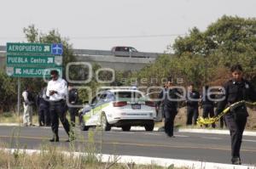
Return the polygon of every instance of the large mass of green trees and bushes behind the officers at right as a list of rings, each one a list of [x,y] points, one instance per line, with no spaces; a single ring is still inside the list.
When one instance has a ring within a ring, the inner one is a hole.
[[[231,65],[242,65],[245,76],[256,82],[256,19],[243,19],[224,15],[200,31],[194,27],[186,37],[177,37],[172,45],[175,54],[165,54],[153,65],[133,72],[129,78],[157,78],[148,86],[162,85],[161,79],[183,78],[183,85],[194,82],[195,86],[221,84],[218,70]],[[223,72],[224,73],[224,72]],[[228,76],[224,76],[229,78]]]

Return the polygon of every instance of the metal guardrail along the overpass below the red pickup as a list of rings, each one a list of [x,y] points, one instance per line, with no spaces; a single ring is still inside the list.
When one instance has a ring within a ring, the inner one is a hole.
[[[0,46],[0,53],[5,53],[6,46]],[[90,49],[73,49],[75,55],[113,55],[117,57],[132,57],[132,58],[154,58],[156,59],[161,54],[157,53],[143,53],[143,52],[111,52],[108,50],[90,50]]]

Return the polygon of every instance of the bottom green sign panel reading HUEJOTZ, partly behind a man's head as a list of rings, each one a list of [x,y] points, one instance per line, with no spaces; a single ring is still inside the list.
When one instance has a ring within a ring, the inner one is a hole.
[[[22,67],[22,66],[7,66],[6,73],[8,76],[15,77],[49,77],[50,70],[58,70],[62,75],[62,67],[55,68],[40,68],[40,67]]]

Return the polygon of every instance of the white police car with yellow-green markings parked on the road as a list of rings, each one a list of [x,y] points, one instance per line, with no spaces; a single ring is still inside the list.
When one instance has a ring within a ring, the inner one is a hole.
[[[153,131],[155,119],[154,102],[142,92],[132,89],[103,91],[79,111],[81,130],[101,126],[105,131],[111,130],[111,127],[130,131],[132,126],[141,126],[146,131]]]

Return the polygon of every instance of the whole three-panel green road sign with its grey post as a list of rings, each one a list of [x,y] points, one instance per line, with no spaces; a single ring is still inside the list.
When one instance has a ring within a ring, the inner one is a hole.
[[[6,73],[18,77],[18,114],[20,116],[20,77],[49,77],[50,70],[62,75],[61,43],[20,43],[6,44]]]

